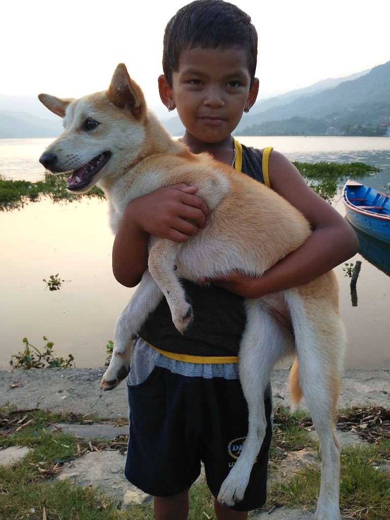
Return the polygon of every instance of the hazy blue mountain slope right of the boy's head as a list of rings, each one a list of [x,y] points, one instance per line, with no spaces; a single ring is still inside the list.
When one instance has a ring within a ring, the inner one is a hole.
[[[237,135],[384,134],[390,125],[390,61],[332,88],[276,100],[244,117]]]

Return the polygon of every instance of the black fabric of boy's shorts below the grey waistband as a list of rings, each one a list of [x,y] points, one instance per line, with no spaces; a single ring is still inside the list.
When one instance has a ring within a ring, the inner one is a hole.
[[[248,432],[248,407],[239,380],[205,379],[155,367],[138,385],[127,385],[130,430],[125,476],[149,495],[170,497],[198,478],[204,463],[214,497],[234,465]],[[251,511],[266,501],[272,437],[266,397],[266,436],[244,499],[231,509]]]

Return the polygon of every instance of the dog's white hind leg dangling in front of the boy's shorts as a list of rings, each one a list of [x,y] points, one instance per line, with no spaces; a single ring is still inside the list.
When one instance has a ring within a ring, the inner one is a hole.
[[[240,381],[248,403],[248,435],[238,460],[224,480],[218,502],[231,506],[244,497],[252,466],[266,433],[264,392],[276,361],[294,348],[292,334],[259,300],[246,301],[247,323],[240,348]]]

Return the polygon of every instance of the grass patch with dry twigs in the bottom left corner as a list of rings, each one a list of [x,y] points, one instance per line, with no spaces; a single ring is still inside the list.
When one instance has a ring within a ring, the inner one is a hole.
[[[86,441],[51,431],[53,423],[59,421],[83,422],[83,418],[43,410],[0,410],[0,447],[31,450],[12,466],[0,466],[0,511],[4,518],[42,520],[44,511],[50,520],[120,518],[113,500],[100,496],[97,490],[53,480],[64,463],[89,449]]]

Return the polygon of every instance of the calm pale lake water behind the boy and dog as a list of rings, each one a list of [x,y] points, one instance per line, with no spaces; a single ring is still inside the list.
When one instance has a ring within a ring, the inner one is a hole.
[[[0,139],[0,175],[41,180],[44,171],[38,157],[52,140]],[[383,189],[390,182],[390,138],[241,137],[240,141],[257,148],[274,146],[291,160],[373,164],[382,171],[369,184]],[[333,205],[344,214],[340,198]],[[23,337],[41,349],[44,335],[55,343],[55,354],[73,354],[76,366],[102,366],[116,317],[133,293],[112,275],[113,236],[106,202],[32,203],[20,211],[0,212],[0,229],[0,369],[10,368],[11,355],[23,349]],[[344,266],[335,269],[348,334],[345,366],[390,368],[389,271],[375,267],[363,254],[350,259],[362,262],[357,294],[350,292]],[[386,261],[390,251],[380,254]],[[45,289],[43,278],[57,273],[64,280],[61,289]]]

